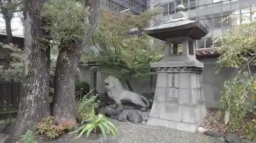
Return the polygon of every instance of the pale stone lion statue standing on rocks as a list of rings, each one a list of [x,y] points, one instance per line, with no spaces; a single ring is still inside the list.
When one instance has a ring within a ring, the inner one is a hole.
[[[115,101],[115,104],[112,107],[114,109],[116,109],[117,107],[122,109],[122,100],[130,101],[136,105],[141,106],[141,111],[146,111],[146,108],[149,106],[149,103],[144,96],[123,89],[119,79],[112,75],[104,79],[104,84],[109,97]],[[143,99],[146,104],[141,99]]]

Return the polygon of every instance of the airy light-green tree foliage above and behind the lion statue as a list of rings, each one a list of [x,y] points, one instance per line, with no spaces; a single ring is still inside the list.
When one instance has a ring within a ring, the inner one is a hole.
[[[162,57],[163,46],[151,44],[153,39],[147,35],[139,37],[128,32],[132,28],[146,28],[147,21],[152,20],[154,15],[154,10],[140,15],[104,12],[98,31],[92,38],[93,45],[101,52],[87,60],[95,61],[103,73],[115,75],[121,82],[146,77],[151,72],[150,62]]]

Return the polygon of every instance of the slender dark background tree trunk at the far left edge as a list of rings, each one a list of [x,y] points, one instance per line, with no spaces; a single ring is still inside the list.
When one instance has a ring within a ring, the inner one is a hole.
[[[3,8],[6,9],[6,8]],[[6,11],[6,13],[4,13]],[[11,28],[11,20],[12,20],[12,16],[8,15],[8,10],[5,10],[3,12],[4,15],[4,19],[5,19],[5,26],[6,26],[6,35],[7,35],[7,44],[12,43],[12,28]],[[12,61],[11,58],[11,50],[9,49],[5,49],[5,64],[3,65],[3,70],[7,70],[10,67],[10,63]]]

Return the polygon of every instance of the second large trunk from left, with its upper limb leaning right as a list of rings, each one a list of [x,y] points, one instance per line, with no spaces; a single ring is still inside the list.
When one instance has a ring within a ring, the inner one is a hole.
[[[77,128],[75,118],[75,80],[78,63],[81,52],[86,43],[90,40],[93,31],[98,23],[101,15],[100,1],[86,1],[84,7],[89,7],[89,21],[91,27],[84,35],[83,39],[77,39],[71,42],[70,46],[60,47],[55,70],[55,91],[54,91],[54,107],[53,115],[58,124],[62,121],[69,120],[73,124],[74,129]]]

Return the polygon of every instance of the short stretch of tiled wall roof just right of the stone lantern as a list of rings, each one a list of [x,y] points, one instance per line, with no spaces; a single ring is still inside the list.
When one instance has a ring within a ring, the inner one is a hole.
[[[219,56],[219,53],[217,52],[218,47],[214,48],[201,48],[196,49],[196,56],[202,57],[202,56]]]

